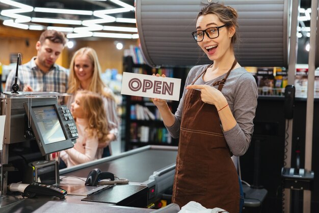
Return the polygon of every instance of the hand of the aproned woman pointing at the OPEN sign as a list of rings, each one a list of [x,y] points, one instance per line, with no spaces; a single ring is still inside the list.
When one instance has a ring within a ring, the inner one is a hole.
[[[201,99],[204,103],[215,105],[217,109],[227,104],[223,93],[209,85],[189,85],[186,89],[200,89]]]

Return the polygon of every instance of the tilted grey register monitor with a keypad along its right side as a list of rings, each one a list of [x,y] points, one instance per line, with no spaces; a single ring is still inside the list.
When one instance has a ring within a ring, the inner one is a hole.
[[[74,146],[77,134],[75,123],[66,106],[57,101],[26,102],[24,109],[42,155],[69,149]],[[72,130],[70,131],[70,127]]]

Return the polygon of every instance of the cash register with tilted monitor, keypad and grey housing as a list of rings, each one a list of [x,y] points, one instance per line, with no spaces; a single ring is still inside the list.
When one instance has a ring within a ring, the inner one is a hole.
[[[6,115],[2,195],[10,183],[56,184],[59,167],[51,153],[72,148],[78,137],[67,106],[58,105],[58,92],[4,92]]]

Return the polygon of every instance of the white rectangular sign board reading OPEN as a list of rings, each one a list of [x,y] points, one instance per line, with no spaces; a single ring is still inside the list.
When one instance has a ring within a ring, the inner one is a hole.
[[[180,79],[123,73],[121,94],[179,101]]]

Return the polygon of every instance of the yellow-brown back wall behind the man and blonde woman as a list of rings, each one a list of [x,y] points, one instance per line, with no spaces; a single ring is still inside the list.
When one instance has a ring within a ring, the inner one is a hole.
[[[33,56],[37,55],[35,49],[36,42],[43,31],[22,30],[12,27],[7,27],[0,24],[0,62],[8,65],[10,63],[11,53],[21,53],[22,62],[28,62]],[[96,40],[75,39],[75,45],[72,49],[67,47],[62,52],[57,60],[57,64],[69,68],[70,60],[74,52],[85,46],[93,48],[98,55],[102,72],[107,68],[118,69],[122,73],[124,50],[129,49],[129,45],[138,45],[137,40],[123,39],[124,44],[122,50],[117,50],[115,41],[119,39],[113,38],[96,38]],[[29,45],[27,45],[29,43]]]

